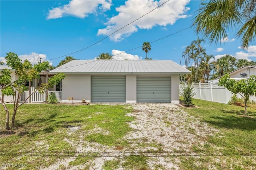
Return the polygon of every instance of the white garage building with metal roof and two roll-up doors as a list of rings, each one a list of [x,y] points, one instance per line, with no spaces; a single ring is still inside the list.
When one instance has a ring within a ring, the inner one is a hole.
[[[62,102],[179,102],[180,74],[191,74],[170,60],[72,60],[63,72]]]

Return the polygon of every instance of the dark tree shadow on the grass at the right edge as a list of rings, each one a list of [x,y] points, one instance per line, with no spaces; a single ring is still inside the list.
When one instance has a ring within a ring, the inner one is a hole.
[[[227,129],[240,129],[245,131],[256,130],[256,118],[254,117],[240,117],[240,116],[211,116],[211,120],[206,120],[214,126]]]

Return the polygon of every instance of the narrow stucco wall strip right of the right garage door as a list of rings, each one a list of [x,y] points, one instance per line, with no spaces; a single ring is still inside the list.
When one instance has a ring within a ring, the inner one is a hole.
[[[179,104],[179,83],[180,83],[180,74],[172,74],[171,75],[171,102],[174,104]]]

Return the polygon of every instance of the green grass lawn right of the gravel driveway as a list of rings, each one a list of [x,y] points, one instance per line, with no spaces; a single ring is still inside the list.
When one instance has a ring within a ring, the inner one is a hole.
[[[248,106],[245,117],[241,106],[197,99],[193,104],[200,108],[184,110],[219,129],[220,133],[206,139],[210,145],[192,147],[194,152],[204,156],[182,158],[182,169],[207,169],[212,162],[215,162],[214,169],[255,169],[256,105]]]

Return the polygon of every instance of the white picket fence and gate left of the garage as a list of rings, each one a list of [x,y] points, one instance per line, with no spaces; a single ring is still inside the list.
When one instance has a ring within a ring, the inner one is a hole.
[[[31,93],[34,92],[34,88],[31,88]],[[18,92],[16,92],[18,94]],[[16,94],[16,96],[18,96]],[[50,95],[55,95],[55,97],[57,98],[58,102],[61,102],[61,92],[57,92],[57,91],[48,91],[48,98]],[[20,96],[20,100],[19,102],[25,102],[25,100],[28,98],[29,96],[29,92],[25,91],[22,93],[22,95]],[[34,92],[31,96],[31,103],[44,103],[46,100],[46,92],[44,92],[43,94],[40,94],[38,91]],[[28,102],[28,100],[26,101]]]

